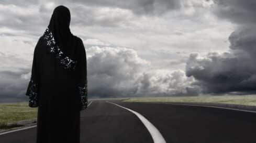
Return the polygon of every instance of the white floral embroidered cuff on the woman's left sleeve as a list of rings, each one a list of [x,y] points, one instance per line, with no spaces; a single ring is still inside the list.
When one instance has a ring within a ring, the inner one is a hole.
[[[33,80],[29,81],[27,96],[29,96],[29,107],[38,107],[38,84]]]

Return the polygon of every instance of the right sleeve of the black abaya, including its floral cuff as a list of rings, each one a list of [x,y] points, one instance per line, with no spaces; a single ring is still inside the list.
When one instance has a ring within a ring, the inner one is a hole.
[[[87,62],[86,51],[83,41],[79,38],[80,48],[79,57],[77,59],[78,88],[80,94],[80,111],[87,108]]]

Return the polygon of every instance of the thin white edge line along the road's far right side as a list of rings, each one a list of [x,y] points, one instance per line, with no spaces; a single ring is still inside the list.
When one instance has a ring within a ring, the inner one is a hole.
[[[134,102],[134,103],[135,103],[135,102]],[[137,102],[137,103],[138,103],[138,102]],[[218,109],[227,109],[227,110],[235,110],[235,111],[242,111],[242,112],[256,113],[256,111],[250,111],[250,110],[233,109],[233,108],[218,107],[218,106],[207,106],[207,105],[190,105],[190,104],[162,103],[162,102],[139,102],[139,103],[154,103],[154,104],[165,104],[165,105],[179,105],[179,106],[209,107],[209,108],[218,108]]]

